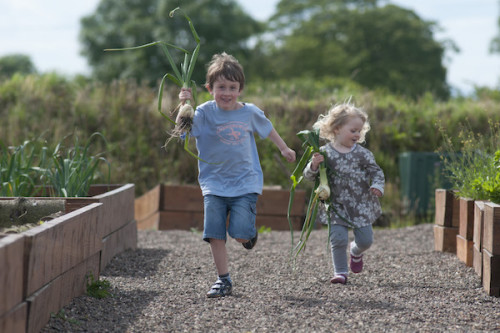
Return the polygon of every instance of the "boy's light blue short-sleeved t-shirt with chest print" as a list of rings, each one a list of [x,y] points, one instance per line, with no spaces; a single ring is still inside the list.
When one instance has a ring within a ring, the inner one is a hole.
[[[263,175],[254,133],[266,138],[273,125],[253,104],[225,111],[209,101],[196,108],[191,135],[196,138],[198,181],[203,195],[236,197],[262,194]]]

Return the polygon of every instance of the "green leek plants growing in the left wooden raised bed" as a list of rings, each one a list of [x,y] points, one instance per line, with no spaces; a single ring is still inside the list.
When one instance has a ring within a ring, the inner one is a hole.
[[[100,176],[101,163],[108,165],[108,181],[111,173],[104,157],[90,153],[94,137],[106,141],[102,134],[94,133],[84,145],[75,136],[73,147],[68,148],[59,142],[52,149],[39,139],[14,147],[0,142],[0,196],[87,196],[90,185]]]

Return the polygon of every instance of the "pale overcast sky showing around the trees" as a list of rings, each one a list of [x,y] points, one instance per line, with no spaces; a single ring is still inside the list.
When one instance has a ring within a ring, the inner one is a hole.
[[[237,0],[256,19],[266,19],[278,0]],[[455,41],[460,53],[448,54],[448,82],[464,93],[473,85],[498,87],[500,55],[489,54],[498,33],[498,0],[392,0],[443,28],[436,38]],[[40,71],[88,74],[80,56],[80,18],[91,14],[99,0],[0,0],[0,57],[21,53]]]

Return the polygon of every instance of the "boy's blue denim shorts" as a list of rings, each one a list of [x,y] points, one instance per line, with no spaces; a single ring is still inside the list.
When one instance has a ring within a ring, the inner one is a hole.
[[[239,197],[220,197],[205,195],[203,240],[209,238],[227,239],[227,233],[232,238],[251,239],[255,236],[255,216],[257,214],[257,193],[249,193]],[[229,214],[229,225],[227,217]]]

